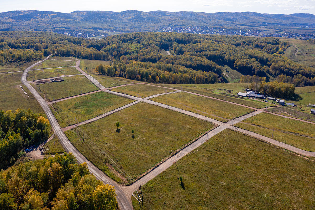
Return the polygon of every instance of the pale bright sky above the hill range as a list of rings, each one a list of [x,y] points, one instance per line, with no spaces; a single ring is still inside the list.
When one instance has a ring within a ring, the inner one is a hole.
[[[0,12],[41,10],[69,13],[76,10],[144,12],[258,12],[269,14],[315,14],[315,0],[0,0]]]

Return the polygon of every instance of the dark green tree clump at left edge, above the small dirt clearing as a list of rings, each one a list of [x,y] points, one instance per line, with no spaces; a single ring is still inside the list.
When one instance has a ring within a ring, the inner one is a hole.
[[[28,110],[0,111],[0,169],[14,164],[23,148],[48,139],[49,121]]]

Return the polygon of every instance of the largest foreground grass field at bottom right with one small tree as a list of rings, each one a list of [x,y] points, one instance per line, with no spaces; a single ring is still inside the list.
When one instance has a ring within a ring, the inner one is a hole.
[[[225,139],[228,144],[215,150],[224,145]],[[228,129],[209,139],[209,143],[178,160],[179,172],[173,164],[141,186],[144,209],[314,206],[313,161]],[[140,209],[138,201],[133,196],[131,199],[134,209]]]

